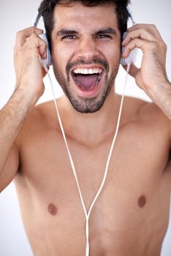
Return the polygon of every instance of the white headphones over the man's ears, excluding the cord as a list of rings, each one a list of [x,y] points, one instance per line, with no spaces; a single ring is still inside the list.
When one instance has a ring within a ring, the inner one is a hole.
[[[130,10],[129,7],[126,7],[128,12],[129,12],[129,18],[132,20],[132,26],[135,24],[133,18],[132,18],[132,11]],[[41,15],[39,14],[38,10],[36,12],[36,14],[34,15],[34,18],[32,20],[32,26],[36,26],[39,23],[39,19],[40,19]],[[41,37],[47,44],[47,58],[46,59],[41,59],[41,64],[46,65],[47,67],[49,67],[52,64],[51,61],[51,56],[50,56],[50,50],[49,50],[49,45],[48,45],[48,41],[47,41],[47,36],[46,34],[40,34],[39,37]],[[123,34],[123,38],[126,37],[126,32]],[[124,48],[122,48],[122,52],[123,52]],[[134,63],[135,59],[137,57],[137,49],[135,48],[134,50],[131,51],[131,53],[129,53],[129,56],[126,59],[121,59],[121,65],[122,66],[126,66],[128,64],[132,64]]]

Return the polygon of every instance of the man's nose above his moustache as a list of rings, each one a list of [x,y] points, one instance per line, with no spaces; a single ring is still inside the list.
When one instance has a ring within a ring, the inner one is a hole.
[[[96,39],[86,37],[80,40],[78,57],[81,59],[91,60],[99,56],[99,50],[96,45]]]

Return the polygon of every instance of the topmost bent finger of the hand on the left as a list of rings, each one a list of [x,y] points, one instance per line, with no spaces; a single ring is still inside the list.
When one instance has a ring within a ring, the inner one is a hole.
[[[32,26],[28,29],[24,29],[22,31],[18,31],[16,39],[15,39],[15,50],[19,50],[24,42],[26,42],[26,39],[31,36],[31,34],[42,34],[42,29],[37,29],[36,27]]]

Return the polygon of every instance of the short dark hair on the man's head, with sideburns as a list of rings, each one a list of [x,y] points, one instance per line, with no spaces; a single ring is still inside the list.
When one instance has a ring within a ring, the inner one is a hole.
[[[129,18],[129,12],[126,9],[129,4],[129,0],[43,0],[39,6],[39,13],[42,15],[42,18],[45,23],[45,30],[47,34],[47,40],[49,42],[49,48],[51,51],[51,32],[53,30],[53,11],[58,5],[69,5],[76,1],[79,1],[81,4],[86,7],[96,7],[99,5],[113,4],[115,11],[118,17],[118,29],[121,31],[121,37],[123,33],[127,30],[127,20]]]

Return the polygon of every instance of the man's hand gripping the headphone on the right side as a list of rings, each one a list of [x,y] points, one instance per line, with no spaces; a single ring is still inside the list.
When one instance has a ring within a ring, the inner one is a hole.
[[[122,42],[123,58],[129,56],[134,48],[142,50],[141,68],[132,65],[130,75],[136,79],[136,83],[145,91],[159,86],[167,81],[166,52],[167,46],[154,25],[137,24],[128,29]]]

